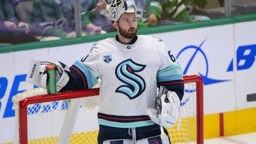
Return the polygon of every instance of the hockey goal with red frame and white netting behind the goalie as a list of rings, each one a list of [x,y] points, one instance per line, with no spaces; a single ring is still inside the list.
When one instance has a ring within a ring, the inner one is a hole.
[[[184,97],[179,120],[167,128],[171,143],[203,144],[203,81],[183,76]],[[96,144],[99,89],[48,95],[36,88],[12,98],[15,107],[15,144]]]

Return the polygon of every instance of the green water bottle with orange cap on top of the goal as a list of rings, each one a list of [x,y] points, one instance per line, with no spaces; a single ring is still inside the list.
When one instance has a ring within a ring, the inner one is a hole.
[[[52,64],[46,66],[47,81],[46,89],[48,94],[56,94],[56,70]]]

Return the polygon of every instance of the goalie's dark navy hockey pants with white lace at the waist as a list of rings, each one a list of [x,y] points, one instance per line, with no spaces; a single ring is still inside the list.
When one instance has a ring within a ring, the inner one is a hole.
[[[118,128],[99,125],[98,144],[170,144],[167,130],[166,139],[160,138],[159,125],[136,128]]]

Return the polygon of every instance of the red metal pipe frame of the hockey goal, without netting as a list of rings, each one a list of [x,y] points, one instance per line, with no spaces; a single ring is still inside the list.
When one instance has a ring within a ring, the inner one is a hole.
[[[203,80],[197,75],[183,76],[185,83],[196,83],[197,91],[197,144],[203,144]],[[90,90],[77,90],[60,92],[54,95],[39,95],[28,97],[19,102],[19,137],[21,144],[27,144],[27,107],[29,104],[60,101],[66,99],[82,98],[99,95],[99,88]]]

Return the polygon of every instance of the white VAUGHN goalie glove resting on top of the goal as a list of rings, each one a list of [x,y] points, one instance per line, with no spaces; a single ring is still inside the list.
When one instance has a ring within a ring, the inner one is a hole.
[[[32,59],[26,81],[46,89],[46,66],[53,64],[56,67],[56,90],[60,91],[69,81],[69,68],[61,62],[49,62]]]

